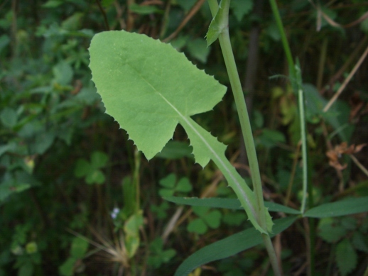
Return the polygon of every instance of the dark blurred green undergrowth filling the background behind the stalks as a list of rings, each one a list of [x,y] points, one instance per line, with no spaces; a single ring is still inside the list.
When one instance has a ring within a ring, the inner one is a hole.
[[[147,162],[104,114],[90,81],[92,36],[124,29],[170,42],[229,85],[220,46],[207,48],[203,39],[212,19],[203,2],[0,4],[0,275],[173,275],[190,253],[251,226],[239,210],[164,201],[172,195],[234,194],[214,164],[203,170],[195,164],[180,127],[175,141]],[[314,204],[367,196],[366,61],[329,115],[323,111],[367,48],[367,19],[343,28],[367,11],[367,3],[330,1],[320,10],[307,0],[278,5],[305,82]],[[276,23],[266,1],[232,0],[230,13],[264,197],[298,209],[300,126],[296,96],[283,77],[288,66]],[[228,145],[227,158],[248,180],[231,94],[214,111],[194,118]],[[367,213],[300,219],[276,236],[285,275],[306,275],[310,228],[317,233],[315,275],[364,275]],[[257,245],[193,275],[271,275],[265,252]]]

